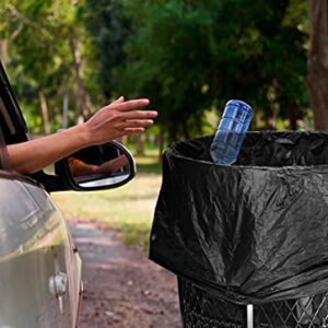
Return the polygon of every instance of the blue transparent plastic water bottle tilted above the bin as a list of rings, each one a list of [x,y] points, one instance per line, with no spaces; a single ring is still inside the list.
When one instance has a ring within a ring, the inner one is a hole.
[[[215,164],[231,165],[236,162],[251,118],[253,109],[248,104],[235,99],[226,103],[211,144],[211,156]]]

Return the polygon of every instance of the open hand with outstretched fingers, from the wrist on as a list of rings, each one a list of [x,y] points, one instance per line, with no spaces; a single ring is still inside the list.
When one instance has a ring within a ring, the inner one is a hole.
[[[153,125],[155,110],[136,110],[149,105],[149,99],[125,102],[122,97],[101,108],[81,128],[86,132],[89,144],[102,144],[126,134],[142,133]]]

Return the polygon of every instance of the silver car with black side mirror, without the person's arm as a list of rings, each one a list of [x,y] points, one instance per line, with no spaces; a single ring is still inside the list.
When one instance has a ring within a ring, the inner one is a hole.
[[[93,165],[125,156],[125,166],[110,174],[75,176],[70,159],[63,159],[55,164],[55,174],[22,175],[11,169],[7,145],[28,139],[0,62],[0,327],[77,327],[82,262],[50,192],[117,188],[133,178],[134,160],[114,141],[70,155]]]

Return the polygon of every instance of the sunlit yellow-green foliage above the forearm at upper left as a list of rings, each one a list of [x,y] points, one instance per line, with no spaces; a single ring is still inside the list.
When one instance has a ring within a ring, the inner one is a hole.
[[[27,106],[24,110],[27,118],[34,116],[35,124],[39,122],[42,92],[48,101],[52,126],[59,128],[63,87],[69,86],[73,93],[71,42],[86,36],[79,21],[79,8],[63,0],[15,0],[4,2],[0,16],[3,17],[1,38],[9,43],[8,71],[23,105]],[[87,40],[84,43],[86,47]],[[86,52],[84,47],[80,48],[82,56]],[[74,103],[71,106],[78,107]]]

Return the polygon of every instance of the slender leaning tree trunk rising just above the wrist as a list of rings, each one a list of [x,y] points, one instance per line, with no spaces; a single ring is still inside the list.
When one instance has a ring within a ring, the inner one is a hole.
[[[91,101],[86,92],[84,81],[81,77],[81,57],[79,47],[74,39],[70,39],[70,47],[72,51],[73,66],[75,71],[77,79],[77,97],[80,108],[82,109],[82,115],[84,119],[87,119],[91,116]]]

